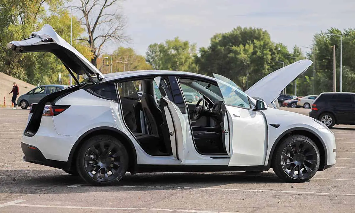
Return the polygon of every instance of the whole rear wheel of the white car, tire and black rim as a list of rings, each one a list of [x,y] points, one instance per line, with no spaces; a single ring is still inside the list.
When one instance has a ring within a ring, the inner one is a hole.
[[[115,137],[97,135],[80,148],[76,166],[79,175],[94,186],[111,186],[120,181],[128,168],[129,155]]]

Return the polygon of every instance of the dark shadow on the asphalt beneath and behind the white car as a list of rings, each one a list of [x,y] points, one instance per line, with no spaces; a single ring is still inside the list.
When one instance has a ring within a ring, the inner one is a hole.
[[[273,173],[140,173],[127,175],[117,186],[213,187],[226,184],[280,184]],[[73,184],[85,186],[68,188]],[[0,189],[5,193],[80,193],[95,191],[147,191],[174,188],[92,187],[79,177],[61,170],[6,170],[0,173]]]

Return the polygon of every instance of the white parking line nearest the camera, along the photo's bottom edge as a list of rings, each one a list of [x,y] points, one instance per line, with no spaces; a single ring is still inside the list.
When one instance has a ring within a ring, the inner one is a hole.
[[[165,211],[165,212],[190,212],[190,213],[241,213],[241,212],[218,212],[218,211],[205,211],[205,210],[188,210],[188,209],[161,209],[161,208],[114,208],[114,207],[88,207],[88,206],[48,206],[48,205],[34,205],[34,204],[21,204],[26,200],[16,200],[0,205],[4,206],[24,206],[24,207],[39,207],[39,208],[72,208],[72,209],[108,209],[108,210],[149,210],[149,211]]]

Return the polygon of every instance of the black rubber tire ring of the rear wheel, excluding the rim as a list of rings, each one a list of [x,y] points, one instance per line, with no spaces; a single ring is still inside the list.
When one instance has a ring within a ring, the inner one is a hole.
[[[117,177],[111,181],[107,181],[107,182],[100,182],[100,181],[96,181],[94,179],[91,178],[91,176],[89,176],[85,170],[85,166],[84,166],[84,157],[86,154],[86,151],[89,149],[89,147],[91,147],[93,144],[98,143],[99,141],[106,141],[106,142],[110,142],[110,143],[115,143],[117,146],[120,147],[122,154],[123,154],[123,163],[124,166],[120,172],[119,175],[117,175]],[[89,138],[88,140],[86,140],[79,152],[78,152],[78,156],[76,159],[76,168],[78,171],[78,174],[80,175],[80,177],[85,180],[86,182],[88,182],[91,185],[94,186],[111,186],[116,184],[117,182],[119,182],[123,176],[125,175],[127,169],[128,169],[128,165],[129,165],[129,155],[127,153],[127,150],[125,148],[125,146],[115,137],[113,136],[109,136],[109,135],[98,135],[98,136],[93,136],[91,138]]]

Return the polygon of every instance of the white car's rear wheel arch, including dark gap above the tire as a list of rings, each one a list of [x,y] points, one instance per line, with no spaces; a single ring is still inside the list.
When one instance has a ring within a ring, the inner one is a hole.
[[[94,129],[88,130],[82,136],[80,136],[78,140],[76,140],[73,147],[71,148],[68,157],[68,166],[70,169],[75,168],[75,156],[77,156],[81,145],[88,138],[94,135],[110,135],[120,140],[124,144],[129,154],[130,161],[129,161],[129,166],[127,171],[131,171],[131,172],[135,171],[137,165],[137,153],[132,141],[122,131],[109,126],[96,127]]]

